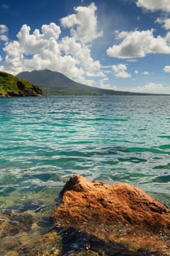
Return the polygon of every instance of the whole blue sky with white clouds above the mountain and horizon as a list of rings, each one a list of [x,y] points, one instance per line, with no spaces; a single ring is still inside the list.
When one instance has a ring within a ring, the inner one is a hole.
[[[170,94],[170,0],[0,0],[0,70]]]

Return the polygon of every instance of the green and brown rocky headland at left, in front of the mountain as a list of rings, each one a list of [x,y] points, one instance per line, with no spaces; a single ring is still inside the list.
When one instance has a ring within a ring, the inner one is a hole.
[[[42,89],[26,80],[0,72],[0,97],[42,96]]]

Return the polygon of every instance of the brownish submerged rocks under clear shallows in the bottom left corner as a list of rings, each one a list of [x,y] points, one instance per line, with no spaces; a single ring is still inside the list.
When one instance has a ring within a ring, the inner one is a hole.
[[[0,255],[61,255],[61,236],[46,211],[42,201],[0,209]]]

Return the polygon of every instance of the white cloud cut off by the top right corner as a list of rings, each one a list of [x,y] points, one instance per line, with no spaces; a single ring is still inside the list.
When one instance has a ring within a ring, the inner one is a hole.
[[[164,12],[170,12],[170,1],[169,0],[137,0],[137,7],[142,7],[145,10],[154,12],[161,10]]]

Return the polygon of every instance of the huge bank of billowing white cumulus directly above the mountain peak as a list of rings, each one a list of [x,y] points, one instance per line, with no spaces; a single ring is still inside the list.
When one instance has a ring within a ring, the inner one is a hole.
[[[24,70],[51,69],[93,86],[90,77],[105,76],[100,61],[93,60],[90,50],[90,43],[101,36],[97,31],[96,6],[90,4],[74,11],[76,14],[61,19],[62,26],[70,29],[67,37],[61,37],[61,26],[55,23],[44,24],[32,32],[24,24],[18,39],[6,43],[6,58],[0,68],[14,75]],[[0,26],[2,32],[7,32],[7,28]]]

